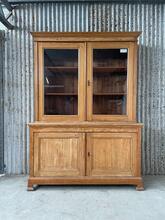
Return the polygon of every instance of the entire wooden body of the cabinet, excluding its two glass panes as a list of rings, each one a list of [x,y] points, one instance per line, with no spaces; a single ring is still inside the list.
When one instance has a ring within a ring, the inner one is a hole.
[[[47,184],[128,184],[143,190],[142,124],[136,122],[136,53],[140,32],[34,32],[32,35],[35,121],[29,123],[28,190]],[[44,48],[79,50],[78,115],[44,115]],[[93,114],[93,48],[128,48],[125,115]]]

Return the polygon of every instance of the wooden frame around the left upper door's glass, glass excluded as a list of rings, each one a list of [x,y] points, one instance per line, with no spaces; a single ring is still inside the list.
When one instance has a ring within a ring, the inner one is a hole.
[[[35,96],[38,97],[35,103],[35,117],[40,121],[76,121],[85,120],[85,100],[86,100],[86,56],[85,43],[48,43],[39,42],[35,49],[35,60],[38,62],[38,69],[35,64]],[[78,49],[79,51],[79,71],[78,71],[78,115],[45,115],[44,114],[44,90],[43,90],[43,49]],[[39,55],[38,55],[38,54]],[[38,60],[38,61],[37,61]],[[81,100],[81,101],[80,101]]]

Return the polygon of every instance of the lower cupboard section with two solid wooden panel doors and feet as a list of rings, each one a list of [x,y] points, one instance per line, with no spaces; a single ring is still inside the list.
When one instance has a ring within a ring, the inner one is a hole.
[[[143,189],[139,126],[30,127],[28,188],[44,184],[133,184]]]

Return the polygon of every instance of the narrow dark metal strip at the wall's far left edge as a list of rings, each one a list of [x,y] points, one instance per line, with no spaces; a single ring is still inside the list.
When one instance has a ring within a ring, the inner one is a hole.
[[[3,144],[3,67],[4,67],[4,31],[0,31],[0,174],[4,171],[4,144]]]

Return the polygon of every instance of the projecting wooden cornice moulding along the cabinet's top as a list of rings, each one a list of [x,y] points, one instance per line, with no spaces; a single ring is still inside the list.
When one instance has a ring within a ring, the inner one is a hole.
[[[40,41],[137,41],[141,32],[31,32]]]

